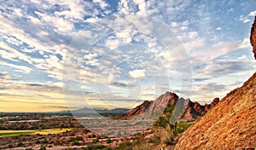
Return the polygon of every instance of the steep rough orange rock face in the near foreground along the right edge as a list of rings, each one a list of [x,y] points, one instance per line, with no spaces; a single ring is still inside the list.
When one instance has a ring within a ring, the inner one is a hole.
[[[251,43],[256,56],[256,23]],[[183,132],[175,149],[255,149],[256,72]]]

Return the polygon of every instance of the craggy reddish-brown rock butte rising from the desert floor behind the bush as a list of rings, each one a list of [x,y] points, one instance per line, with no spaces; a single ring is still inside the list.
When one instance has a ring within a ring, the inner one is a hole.
[[[178,105],[183,109],[182,120],[195,120],[200,118],[208,110],[212,107],[215,107],[218,104],[219,99],[215,98],[211,104],[206,104],[205,106],[201,106],[198,102],[192,102],[189,99],[184,100],[183,98],[178,98],[175,93],[166,92],[163,95],[160,95],[154,101],[144,101],[141,105],[133,108],[131,112],[127,114],[123,114],[123,117],[134,117],[143,113],[153,114],[155,112],[162,112],[161,110],[165,109],[165,107],[169,105],[176,105],[178,101]]]

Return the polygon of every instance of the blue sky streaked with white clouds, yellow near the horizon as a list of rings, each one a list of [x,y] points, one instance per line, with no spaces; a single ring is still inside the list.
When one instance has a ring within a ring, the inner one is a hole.
[[[209,103],[255,72],[256,1],[9,0],[0,112],[136,107],[172,91]]]

